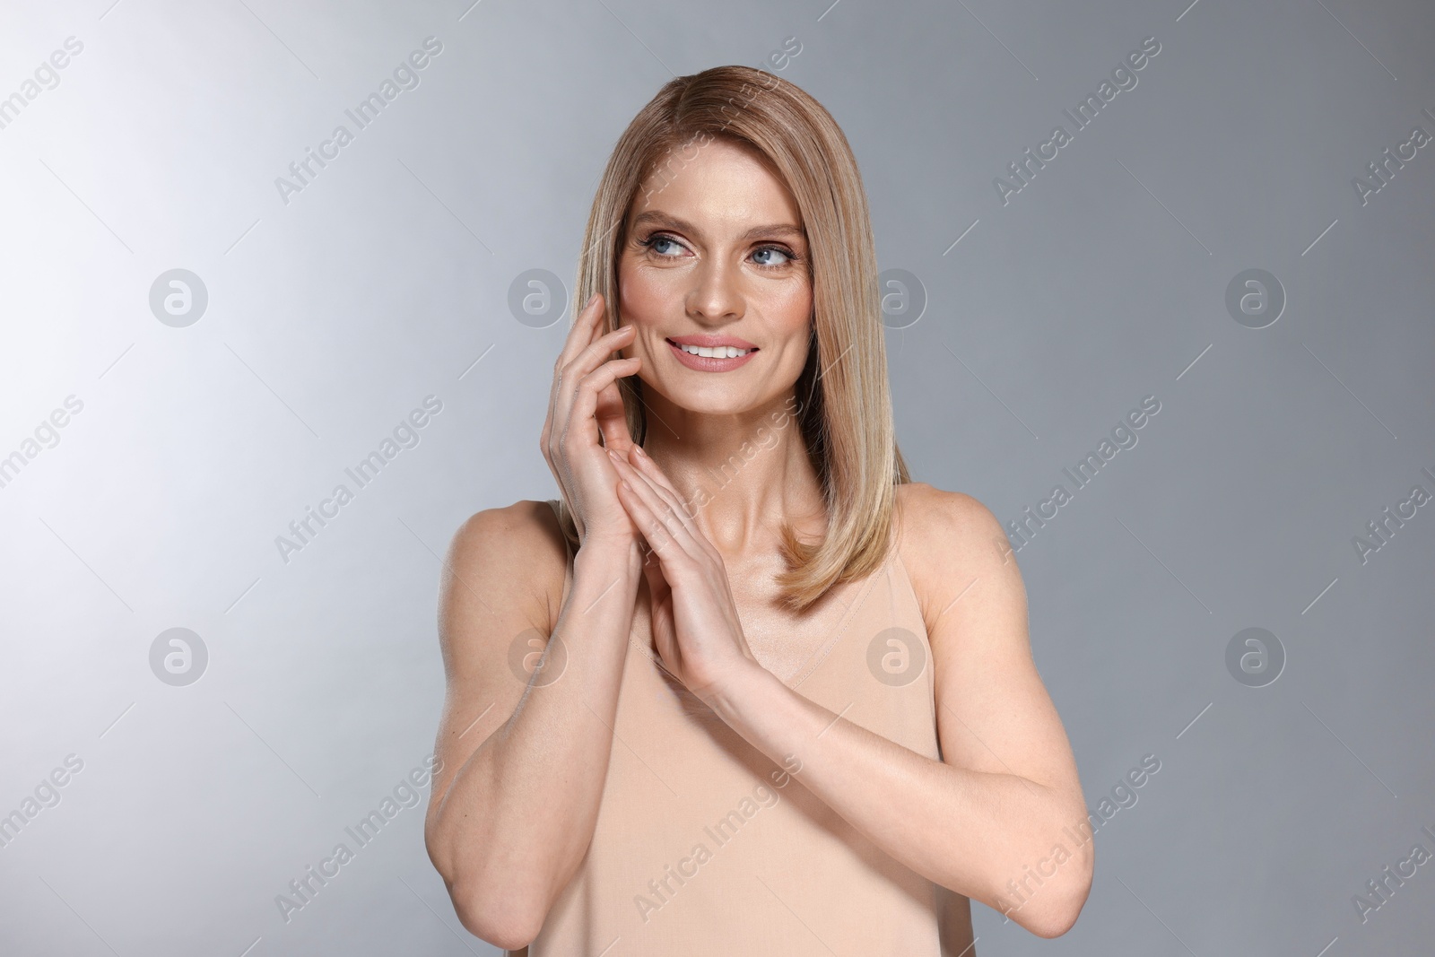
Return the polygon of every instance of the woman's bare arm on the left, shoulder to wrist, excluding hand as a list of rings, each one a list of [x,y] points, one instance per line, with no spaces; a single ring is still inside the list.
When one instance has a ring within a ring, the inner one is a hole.
[[[439,603],[448,694],[425,844],[464,927],[511,950],[538,934],[593,839],[641,574],[636,544],[580,548],[551,628],[563,654],[552,638],[525,683],[514,644],[532,653],[530,638],[550,633],[557,528],[544,502],[474,515],[453,537]]]

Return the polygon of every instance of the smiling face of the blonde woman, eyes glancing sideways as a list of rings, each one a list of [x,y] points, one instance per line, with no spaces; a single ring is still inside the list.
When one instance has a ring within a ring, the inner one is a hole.
[[[729,141],[673,156],[629,209],[618,308],[637,331],[623,356],[641,357],[644,389],[682,409],[762,409],[788,395],[808,354],[812,281],[796,202]]]

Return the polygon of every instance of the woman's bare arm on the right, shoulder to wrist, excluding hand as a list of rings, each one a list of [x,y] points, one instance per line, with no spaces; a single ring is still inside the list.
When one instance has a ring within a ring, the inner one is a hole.
[[[795,755],[796,779],[893,858],[1056,937],[1086,901],[1095,854],[1062,829],[1085,834],[1086,806],[1032,661],[1022,575],[980,502],[927,485],[905,495],[901,548],[927,620],[941,760],[839,717],[761,666],[736,669],[710,704],[779,765]]]

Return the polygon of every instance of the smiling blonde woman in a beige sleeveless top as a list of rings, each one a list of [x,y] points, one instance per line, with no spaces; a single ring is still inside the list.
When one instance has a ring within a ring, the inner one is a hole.
[[[474,515],[446,562],[425,836],[464,925],[531,957],[956,956],[974,898],[1065,933],[1071,746],[1000,525],[897,451],[832,118],[748,67],[673,79],[578,293],[563,501]]]

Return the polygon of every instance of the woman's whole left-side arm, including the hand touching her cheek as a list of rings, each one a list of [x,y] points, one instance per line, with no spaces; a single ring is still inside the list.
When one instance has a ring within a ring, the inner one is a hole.
[[[542,502],[479,512],[443,564],[443,763],[423,836],[464,925],[511,950],[538,934],[593,841],[641,574],[607,458],[633,445],[617,380],[641,360],[610,359],[634,330],[601,333],[604,314],[596,294],[574,317],[538,436],[583,539],[558,614],[567,555]],[[542,669],[528,667],[540,650]]]

